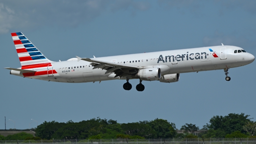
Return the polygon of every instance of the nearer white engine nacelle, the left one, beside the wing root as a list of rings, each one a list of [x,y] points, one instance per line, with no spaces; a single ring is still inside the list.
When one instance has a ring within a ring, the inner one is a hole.
[[[141,80],[159,80],[161,78],[161,69],[159,67],[141,69],[138,72],[138,76]]]

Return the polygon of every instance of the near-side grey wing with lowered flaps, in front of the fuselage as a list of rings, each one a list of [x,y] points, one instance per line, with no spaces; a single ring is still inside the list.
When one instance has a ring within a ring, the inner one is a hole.
[[[94,66],[92,69],[101,68],[102,70],[107,70],[105,74],[114,72],[116,74],[115,77],[119,76],[120,78],[122,78],[127,74],[136,74],[140,69],[149,68],[148,66],[116,64],[116,63],[111,63],[111,62],[101,61],[96,59],[80,58],[77,56],[76,58],[78,58],[77,61],[84,60],[84,61],[92,62],[91,65]]]

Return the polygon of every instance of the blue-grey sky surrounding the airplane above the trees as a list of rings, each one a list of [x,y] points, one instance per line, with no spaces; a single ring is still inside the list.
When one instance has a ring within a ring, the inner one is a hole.
[[[235,45],[256,55],[256,1],[246,0],[0,0],[0,67],[21,67],[12,32],[22,32],[48,59],[82,58]],[[118,123],[165,119],[180,129],[203,128],[216,115],[256,119],[256,62],[223,70],[181,73],[175,83],[132,79],[57,83],[0,71],[0,129],[44,121],[100,117]],[[9,120],[10,119],[10,120]],[[34,119],[34,120],[31,120]],[[13,120],[13,121],[11,121]]]

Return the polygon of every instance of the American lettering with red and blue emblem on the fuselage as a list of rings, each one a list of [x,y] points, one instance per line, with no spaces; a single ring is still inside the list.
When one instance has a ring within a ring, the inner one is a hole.
[[[213,52],[212,51],[212,49],[209,49],[211,52]],[[218,58],[218,56],[217,56],[217,54],[215,53],[215,52],[213,52],[212,53],[212,55],[213,55],[213,57],[214,58]],[[172,62],[176,62],[176,61],[183,61],[183,60],[188,60],[188,59],[190,59],[190,60],[194,60],[194,59],[203,59],[203,58],[207,58],[207,54],[206,54],[206,52],[201,52],[201,54],[200,53],[190,53],[189,55],[188,55],[188,52],[187,52],[187,54],[182,54],[182,55],[176,55],[176,54],[173,54],[173,55],[171,55],[171,56],[165,56],[165,58],[163,57],[163,55],[160,55],[159,56],[159,58],[158,58],[158,61],[157,61],[157,63],[159,63],[160,61],[162,61],[163,63],[166,63],[166,62],[171,62],[171,58],[172,58]]]

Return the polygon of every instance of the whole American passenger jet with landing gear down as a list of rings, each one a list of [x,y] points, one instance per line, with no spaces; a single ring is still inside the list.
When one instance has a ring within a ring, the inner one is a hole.
[[[158,80],[172,83],[180,73],[223,69],[228,70],[252,63],[255,57],[237,46],[220,45],[170,51],[157,51],[96,58],[70,58],[54,62],[46,58],[21,32],[11,33],[20,59],[20,68],[10,74],[24,78],[65,83],[84,83],[126,79],[124,90],[131,90],[129,79],[139,79],[137,91],[143,91],[142,81]]]

